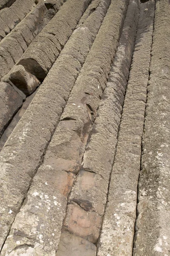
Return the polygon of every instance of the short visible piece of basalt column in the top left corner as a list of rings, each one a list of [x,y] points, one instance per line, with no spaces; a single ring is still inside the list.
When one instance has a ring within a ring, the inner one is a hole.
[[[2,2],[2,1],[1,1]],[[7,35],[21,20],[36,6],[35,0],[3,0],[0,7],[3,8],[4,3],[12,3],[9,8],[0,10],[0,40]],[[8,6],[7,6],[8,7]]]

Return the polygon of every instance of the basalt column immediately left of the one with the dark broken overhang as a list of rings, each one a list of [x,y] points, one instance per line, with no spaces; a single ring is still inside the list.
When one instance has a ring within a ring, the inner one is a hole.
[[[41,0],[37,6],[0,42],[0,78],[5,76],[29,44],[56,14],[62,5],[61,0]],[[6,59],[6,54],[11,58]],[[9,76],[9,75],[8,75]],[[6,78],[7,79],[7,78]],[[6,79],[2,81],[6,81]]]

